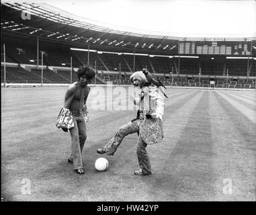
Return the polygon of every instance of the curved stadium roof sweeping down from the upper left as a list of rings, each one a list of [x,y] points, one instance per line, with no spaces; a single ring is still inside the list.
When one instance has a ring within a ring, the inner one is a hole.
[[[177,41],[250,41],[251,38],[183,38],[99,26],[45,3],[1,3],[1,32],[105,50],[177,53]]]

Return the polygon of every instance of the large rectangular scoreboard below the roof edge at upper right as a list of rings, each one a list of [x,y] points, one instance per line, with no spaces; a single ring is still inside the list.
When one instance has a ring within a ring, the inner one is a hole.
[[[179,42],[179,54],[223,54],[249,56],[251,55],[251,42],[185,41]]]

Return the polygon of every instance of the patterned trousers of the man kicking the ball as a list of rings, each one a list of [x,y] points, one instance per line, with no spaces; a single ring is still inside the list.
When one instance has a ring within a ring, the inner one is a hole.
[[[114,155],[125,136],[139,132],[139,123],[140,120],[133,120],[132,122],[129,122],[128,124],[119,128],[118,132],[116,132],[112,139],[105,144],[105,146],[103,146],[106,153],[108,155]],[[136,153],[138,157],[138,164],[140,165],[140,169],[142,169],[143,173],[151,172],[151,163],[149,161],[148,153],[146,153],[146,145],[147,144],[139,135]]]

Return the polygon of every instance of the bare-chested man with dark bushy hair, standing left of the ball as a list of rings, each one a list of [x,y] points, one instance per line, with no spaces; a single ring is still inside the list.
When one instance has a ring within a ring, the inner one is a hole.
[[[89,83],[95,77],[95,72],[90,67],[81,67],[77,71],[78,81],[69,85],[65,93],[64,107],[69,108],[74,119],[74,128],[70,128],[71,150],[69,163],[73,163],[73,168],[78,174],[83,174],[82,151],[87,138],[86,122],[88,122],[88,112],[86,100],[89,95]],[[63,129],[67,132],[67,129]]]

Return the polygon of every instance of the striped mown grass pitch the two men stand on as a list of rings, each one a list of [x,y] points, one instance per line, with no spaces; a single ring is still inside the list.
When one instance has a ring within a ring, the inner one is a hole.
[[[65,91],[1,89],[3,200],[255,201],[255,91],[167,89],[165,138],[147,147],[153,174],[144,177],[134,175],[137,134],[126,136],[114,156],[96,153],[136,116],[122,110],[128,99],[121,110],[105,110],[127,96],[127,90],[110,96],[106,87],[89,95],[85,174],[73,171],[70,134],[55,126]],[[92,107],[95,97],[99,110]],[[108,159],[108,171],[95,170],[99,157]]]

